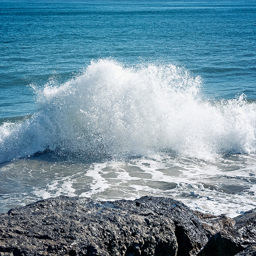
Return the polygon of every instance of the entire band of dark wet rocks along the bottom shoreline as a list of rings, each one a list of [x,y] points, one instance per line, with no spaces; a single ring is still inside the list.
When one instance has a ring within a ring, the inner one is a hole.
[[[0,256],[256,256],[256,208],[236,218],[171,198],[60,196],[0,214]]]

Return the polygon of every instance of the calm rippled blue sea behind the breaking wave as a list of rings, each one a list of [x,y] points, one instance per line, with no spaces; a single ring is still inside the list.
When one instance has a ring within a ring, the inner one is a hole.
[[[255,1],[0,2],[0,117],[35,111],[29,84],[112,57],[173,63],[210,98],[256,99]]]

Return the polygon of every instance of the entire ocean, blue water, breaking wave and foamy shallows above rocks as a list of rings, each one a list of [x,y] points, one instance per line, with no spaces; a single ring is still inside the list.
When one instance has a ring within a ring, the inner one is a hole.
[[[0,1],[0,213],[59,195],[256,207],[256,2]]]

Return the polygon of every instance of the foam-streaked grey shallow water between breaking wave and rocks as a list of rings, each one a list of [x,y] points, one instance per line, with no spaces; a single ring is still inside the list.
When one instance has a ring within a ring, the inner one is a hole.
[[[214,163],[138,157],[87,164],[55,162],[46,155],[1,165],[1,212],[59,195],[98,200],[165,196],[192,210],[230,217],[256,206],[255,155],[233,155]]]

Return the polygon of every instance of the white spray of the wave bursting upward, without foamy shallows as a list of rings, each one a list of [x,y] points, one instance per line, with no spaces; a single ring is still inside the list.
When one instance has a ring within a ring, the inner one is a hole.
[[[93,61],[62,85],[38,91],[39,111],[0,127],[0,162],[46,149],[69,156],[175,152],[205,160],[256,152],[256,103],[212,102],[201,79],[174,65],[127,68]]]

